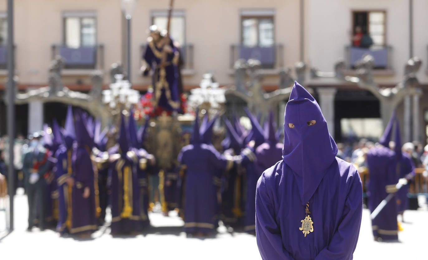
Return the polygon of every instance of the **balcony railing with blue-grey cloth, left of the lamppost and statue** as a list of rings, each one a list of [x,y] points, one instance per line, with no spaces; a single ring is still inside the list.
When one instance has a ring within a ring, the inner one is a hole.
[[[52,59],[61,55],[65,69],[95,70],[104,68],[104,45],[71,48],[65,45],[52,45]]]

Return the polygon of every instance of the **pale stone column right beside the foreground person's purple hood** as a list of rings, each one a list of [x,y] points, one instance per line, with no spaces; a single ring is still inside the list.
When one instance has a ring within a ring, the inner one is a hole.
[[[336,88],[317,88],[321,112],[327,121],[328,131],[334,138],[334,97],[336,95]]]

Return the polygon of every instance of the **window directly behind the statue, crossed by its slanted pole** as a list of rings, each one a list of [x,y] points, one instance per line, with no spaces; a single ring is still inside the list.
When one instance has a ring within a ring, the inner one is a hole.
[[[167,11],[152,11],[152,24],[158,26],[159,30],[166,30],[166,24],[168,23],[168,12]],[[184,46],[186,42],[185,34],[185,15],[183,11],[173,10],[171,15],[171,22],[169,24],[171,38],[178,42],[181,46]]]

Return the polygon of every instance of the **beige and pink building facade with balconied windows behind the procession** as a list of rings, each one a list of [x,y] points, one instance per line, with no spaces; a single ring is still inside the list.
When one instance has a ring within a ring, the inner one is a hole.
[[[181,45],[184,90],[197,87],[204,73],[213,73],[222,86],[233,85],[233,63],[238,58],[261,60],[263,85],[269,91],[278,88],[281,69],[292,68],[301,60],[308,67],[332,71],[333,64],[343,57],[347,73],[352,75],[359,55],[351,40],[356,27],[368,33],[376,47],[375,81],[381,87],[394,86],[401,81],[410,52],[423,62],[428,60],[428,35],[423,30],[428,24],[424,15],[428,3],[411,1],[414,26],[410,38],[409,2],[176,0],[170,34]],[[168,3],[137,0],[131,18],[131,82],[137,90],[146,91],[150,85],[150,79],[140,72],[141,56],[149,26],[166,27]],[[0,0],[0,89],[4,89],[7,74],[6,8],[6,0]],[[79,91],[89,91],[90,75],[95,70],[104,72],[107,85],[111,64],[127,64],[127,30],[119,0],[15,0],[14,21],[15,70],[21,91],[48,84],[48,67],[57,54],[65,59],[64,84]],[[406,140],[426,142],[426,68],[424,63],[418,74],[424,95],[407,98],[397,110]],[[379,102],[370,92],[333,79],[309,79],[309,73],[305,85],[315,89],[336,139],[344,139],[349,130],[376,135],[350,127],[378,124]],[[17,106],[17,130],[23,134],[38,130],[43,122],[58,115],[65,115],[65,107],[56,103]],[[6,110],[1,102],[2,135],[5,123]]]

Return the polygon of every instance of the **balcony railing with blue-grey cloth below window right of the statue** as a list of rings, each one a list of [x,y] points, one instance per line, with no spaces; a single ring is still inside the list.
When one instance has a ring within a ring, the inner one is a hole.
[[[247,47],[244,45],[230,46],[230,68],[238,59],[256,59],[260,60],[263,69],[276,69],[284,66],[284,46],[275,44],[270,47],[254,46]]]

